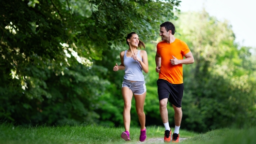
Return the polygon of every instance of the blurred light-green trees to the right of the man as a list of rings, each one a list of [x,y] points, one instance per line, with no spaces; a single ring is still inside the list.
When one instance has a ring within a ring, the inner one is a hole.
[[[255,126],[252,48],[239,48],[228,22],[205,11],[179,16],[177,38],[188,43],[195,59],[192,66],[184,66],[182,125],[198,131]]]

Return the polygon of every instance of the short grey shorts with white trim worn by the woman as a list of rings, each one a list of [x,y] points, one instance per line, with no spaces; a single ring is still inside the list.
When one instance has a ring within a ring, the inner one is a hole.
[[[124,79],[122,87],[129,87],[129,89],[135,95],[142,95],[142,94],[144,94],[144,92],[146,92],[145,81],[130,82],[130,81]]]

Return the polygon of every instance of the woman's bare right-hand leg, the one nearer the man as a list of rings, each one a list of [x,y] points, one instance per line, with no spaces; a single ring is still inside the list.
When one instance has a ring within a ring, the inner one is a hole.
[[[135,103],[136,103],[136,112],[139,117],[139,121],[141,124],[141,130],[145,129],[146,116],[144,113],[144,102],[146,98],[146,92],[142,95],[134,95]]]

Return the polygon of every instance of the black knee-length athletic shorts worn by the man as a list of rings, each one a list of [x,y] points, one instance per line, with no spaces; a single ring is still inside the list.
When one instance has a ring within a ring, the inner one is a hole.
[[[159,101],[165,98],[169,99],[176,107],[181,107],[183,97],[183,84],[171,84],[164,79],[157,80]]]

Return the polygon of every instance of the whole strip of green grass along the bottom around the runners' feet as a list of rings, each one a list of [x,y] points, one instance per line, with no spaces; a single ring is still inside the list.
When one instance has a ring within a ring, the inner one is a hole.
[[[130,128],[130,142],[120,138],[123,131],[124,128],[91,125],[24,127],[0,124],[0,144],[135,144],[139,142],[140,128]],[[163,133],[163,127],[147,127],[147,140],[163,138]],[[256,128],[219,129],[201,134],[180,130],[180,135],[182,138],[188,138],[182,141],[182,144],[256,144]]]

